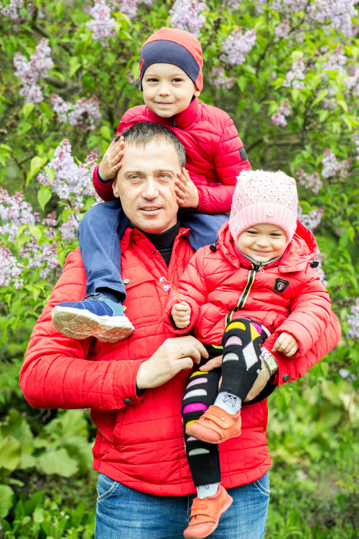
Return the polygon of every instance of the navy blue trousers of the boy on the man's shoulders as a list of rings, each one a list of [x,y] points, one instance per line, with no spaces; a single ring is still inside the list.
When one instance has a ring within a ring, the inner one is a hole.
[[[217,232],[228,219],[227,213],[207,215],[198,212],[178,212],[183,226],[191,229],[189,241],[197,251],[200,247],[214,243]],[[121,278],[122,238],[129,220],[125,216],[121,201],[103,202],[90,208],[79,225],[80,250],[85,266],[86,293],[96,292],[97,288],[110,288],[126,297]]]

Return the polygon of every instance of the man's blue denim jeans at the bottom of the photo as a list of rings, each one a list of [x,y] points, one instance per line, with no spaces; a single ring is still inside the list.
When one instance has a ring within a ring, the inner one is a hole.
[[[233,504],[211,539],[262,539],[269,504],[268,472],[261,479],[229,488]],[[154,496],[98,474],[95,539],[183,539],[190,496]]]

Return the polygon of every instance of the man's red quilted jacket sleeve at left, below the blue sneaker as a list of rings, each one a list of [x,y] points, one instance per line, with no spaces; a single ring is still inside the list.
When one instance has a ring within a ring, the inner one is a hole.
[[[75,341],[62,335],[52,324],[51,310],[71,295],[80,300],[85,293],[86,275],[80,250],[69,254],[64,273],[32,331],[20,387],[27,402],[36,408],[91,408],[119,410],[124,399],[137,403],[136,378],[145,360],[87,360],[91,338]]]

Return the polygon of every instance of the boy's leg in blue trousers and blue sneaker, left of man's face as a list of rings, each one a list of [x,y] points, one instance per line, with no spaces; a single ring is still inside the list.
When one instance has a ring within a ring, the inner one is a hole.
[[[121,202],[103,202],[82,218],[78,236],[85,266],[87,296],[82,301],[65,301],[52,310],[54,326],[67,337],[89,336],[116,342],[128,337],[133,326],[125,316],[126,298],[121,278],[121,247],[128,218]]]

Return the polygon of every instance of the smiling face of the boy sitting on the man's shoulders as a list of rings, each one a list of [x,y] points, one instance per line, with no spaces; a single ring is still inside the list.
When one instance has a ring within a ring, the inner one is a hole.
[[[143,100],[161,118],[171,118],[185,110],[193,96],[198,97],[188,75],[173,64],[152,64],[142,79]]]

